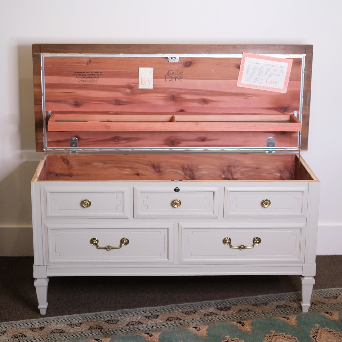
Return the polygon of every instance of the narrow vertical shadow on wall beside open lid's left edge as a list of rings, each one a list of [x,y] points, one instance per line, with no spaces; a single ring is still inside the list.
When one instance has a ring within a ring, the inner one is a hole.
[[[35,114],[31,45],[18,46],[18,78],[21,149],[35,150]]]

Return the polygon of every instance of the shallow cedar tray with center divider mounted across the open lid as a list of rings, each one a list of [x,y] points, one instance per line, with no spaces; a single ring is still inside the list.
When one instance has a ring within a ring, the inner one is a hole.
[[[71,115],[52,114],[49,131],[287,131],[299,132],[292,115]]]

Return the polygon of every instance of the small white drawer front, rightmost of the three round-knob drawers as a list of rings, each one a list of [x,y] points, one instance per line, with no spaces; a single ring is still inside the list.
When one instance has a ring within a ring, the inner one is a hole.
[[[225,187],[224,217],[307,215],[308,187]],[[268,207],[263,207],[268,200]]]

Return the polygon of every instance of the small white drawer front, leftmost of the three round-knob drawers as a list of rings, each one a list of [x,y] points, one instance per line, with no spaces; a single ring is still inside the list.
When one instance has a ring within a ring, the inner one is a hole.
[[[104,216],[128,218],[128,188],[86,187],[56,188],[44,187],[46,198],[46,218],[68,218]],[[82,206],[89,200],[89,207]]]

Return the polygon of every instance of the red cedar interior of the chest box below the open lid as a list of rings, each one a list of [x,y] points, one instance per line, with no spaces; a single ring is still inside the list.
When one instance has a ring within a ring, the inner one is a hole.
[[[298,155],[115,153],[43,156],[33,181],[281,181],[317,178]]]

